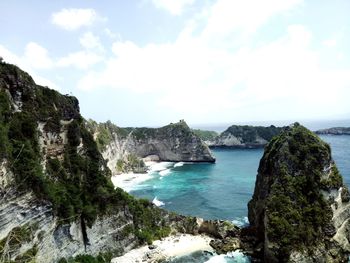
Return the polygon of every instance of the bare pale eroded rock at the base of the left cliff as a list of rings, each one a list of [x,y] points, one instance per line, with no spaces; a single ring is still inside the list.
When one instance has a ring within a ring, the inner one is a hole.
[[[132,224],[127,210],[98,217],[86,229],[89,240],[86,245],[80,220],[62,224],[50,203],[39,202],[31,193],[12,190],[0,202],[0,240],[7,244],[1,247],[0,261],[16,262],[31,250],[30,258],[38,263],[57,262],[79,254],[96,256],[107,251],[121,255],[137,245],[137,238],[125,231]]]

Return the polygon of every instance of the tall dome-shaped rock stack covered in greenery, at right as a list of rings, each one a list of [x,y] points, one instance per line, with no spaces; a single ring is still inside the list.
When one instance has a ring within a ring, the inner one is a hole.
[[[265,262],[347,262],[349,192],[329,145],[299,124],[266,146],[248,210]]]

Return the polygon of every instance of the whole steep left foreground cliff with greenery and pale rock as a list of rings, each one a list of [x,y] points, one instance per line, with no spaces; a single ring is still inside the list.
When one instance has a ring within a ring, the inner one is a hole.
[[[108,258],[169,234],[166,213],[114,189],[71,96],[0,63],[0,262]]]

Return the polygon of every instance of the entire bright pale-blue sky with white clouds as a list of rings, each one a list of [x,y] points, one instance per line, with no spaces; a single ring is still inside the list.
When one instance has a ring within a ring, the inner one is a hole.
[[[119,126],[350,118],[348,0],[0,1],[0,56]]]

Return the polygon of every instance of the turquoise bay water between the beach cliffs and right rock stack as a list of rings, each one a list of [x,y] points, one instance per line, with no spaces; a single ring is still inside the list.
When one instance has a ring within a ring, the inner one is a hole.
[[[130,193],[150,200],[156,197],[163,208],[184,215],[243,224],[262,153],[262,149],[213,150],[215,164],[169,164],[167,175],[155,173]]]

